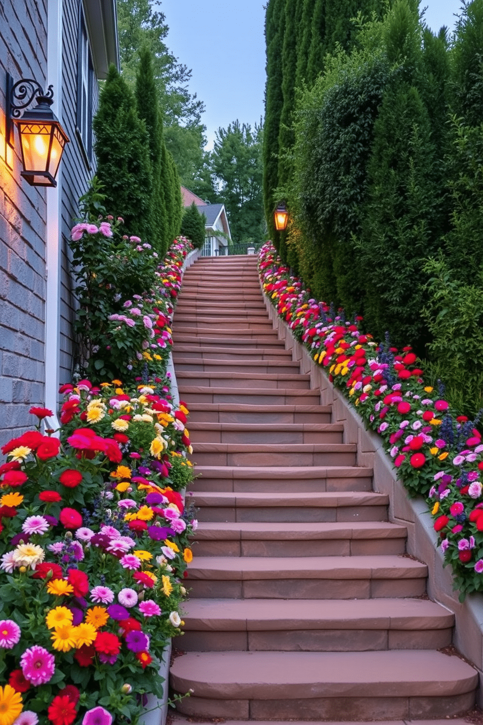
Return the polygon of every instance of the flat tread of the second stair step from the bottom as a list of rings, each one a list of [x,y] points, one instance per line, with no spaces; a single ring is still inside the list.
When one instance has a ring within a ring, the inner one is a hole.
[[[431,600],[192,599],[183,604],[186,629],[445,629],[454,615]]]

